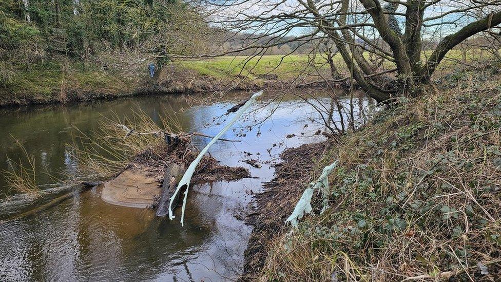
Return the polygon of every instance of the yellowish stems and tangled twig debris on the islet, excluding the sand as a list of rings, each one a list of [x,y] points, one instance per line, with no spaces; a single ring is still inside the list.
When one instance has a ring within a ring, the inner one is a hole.
[[[167,166],[187,167],[200,153],[191,144],[193,134],[183,133],[176,117],[161,119],[159,125],[140,110],[123,120],[104,120],[94,136],[80,135],[75,140],[79,172],[84,178],[106,179],[133,164],[143,164],[161,180]],[[205,156],[192,181],[236,180],[248,175],[243,167],[223,166]]]

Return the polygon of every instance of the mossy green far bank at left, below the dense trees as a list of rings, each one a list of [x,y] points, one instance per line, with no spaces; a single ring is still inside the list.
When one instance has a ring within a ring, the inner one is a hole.
[[[14,66],[0,84],[0,106],[64,103],[131,95],[144,79],[81,62]]]

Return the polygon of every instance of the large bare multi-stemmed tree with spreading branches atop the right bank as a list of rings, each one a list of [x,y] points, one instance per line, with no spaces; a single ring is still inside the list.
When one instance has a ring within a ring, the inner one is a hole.
[[[498,34],[501,24],[500,0],[386,0],[386,4],[380,0],[202,0],[199,4],[205,6],[213,26],[234,34],[227,41],[238,37],[241,42],[239,48],[220,50],[220,54],[253,50],[256,57],[280,44],[295,42],[299,48],[327,39],[351,78],[378,102],[419,95],[451,49],[479,33]]]

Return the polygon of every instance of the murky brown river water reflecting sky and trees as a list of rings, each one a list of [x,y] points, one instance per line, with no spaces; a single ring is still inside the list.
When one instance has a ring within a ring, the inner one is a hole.
[[[114,114],[124,117],[137,108],[155,121],[173,110],[181,111],[178,117],[185,131],[214,136],[224,122],[205,125],[235,105],[233,98],[211,105],[189,105],[182,96],[149,96],[71,106],[3,109],[0,110],[0,169],[11,170],[15,164],[10,159],[24,158],[15,138],[34,156],[38,184],[54,181],[46,172],[78,174],[78,162],[67,145],[72,143],[72,128],[78,127],[92,136],[103,117]],[[322,126],[310,120],[318,118],[313,107],[295,99],[282,101],[271,118],[252,130],[245,127],[254,124],[254,118],[267,116],[277,103],[263,108],[255,117],[247,117],[236,125],[237,130],[229,130],[223,136],[239,139],[240,143],[217,142],[210,149],[211,155],[222,164],[248,167],[252,176],[259,178],[192,187],[184,227],[179,216],[170,221],[167,217],[155,217],[152,210],[105,203],[95,189],[75,193],[74,197],[35,214],[0,222],[0,280],[232,280],[241,272],[251,232],[243,222],[251,194],[261,190],[262,182],[273,178],[273,168],[267,162],[274,161],[286,147],[322,138],[301,136],[301,133],[311,136]],[[319,98],[314,103],[327,105],[330,99]],[[285,138],[288,134],[296,137]],[[199,138],[195,143],[202,147],[208,141]],[[244,152],[252,153],[249,158],[258,159],[262,167],[241,162],[248,158]],[[5,185],[4,177],[0,176],[2,204],[20,197]]]

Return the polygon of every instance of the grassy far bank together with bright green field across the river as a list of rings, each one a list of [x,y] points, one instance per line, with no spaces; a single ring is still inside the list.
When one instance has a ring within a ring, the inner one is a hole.
[[[452,50],[448,57],[441,67],[450,72],[458,61],[479,61],[482,54],[475,50],[466,53]],[[348,76],[340,55],[333,60],[338,70]],[[394,64],[387,62],[384,67],[390,69]],[[273,82],[330,78],[330,67],[324,57],[304,54],[174,61],[153,79],[149,79],[146,66],[105,69],[93,63],[66,60],[8,69],[8,76],[4,76],[8,79],[0,82],[0,106],[86,101],[149,92],[256,89]]]

